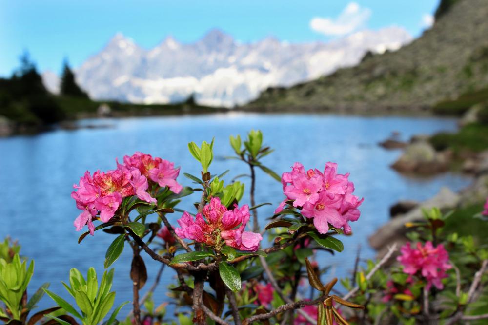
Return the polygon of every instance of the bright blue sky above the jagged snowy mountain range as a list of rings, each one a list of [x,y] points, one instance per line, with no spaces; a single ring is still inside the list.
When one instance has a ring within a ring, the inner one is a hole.
[[[290,42],[327,41],[349,30],[377,30],[391,25],[401,26],[417,37],[426,28],[426,15],[433,14],[439,0],[351,2],[0,0],[0,76],[12,73],[25,49],[40,71],[59,72],[64,57],[78,67],[117,32],[145,48],[157,45],[168,35],[192,42],[212,28],[244,42],[267,36]],[[352,15],[345,14],[346,8]]]

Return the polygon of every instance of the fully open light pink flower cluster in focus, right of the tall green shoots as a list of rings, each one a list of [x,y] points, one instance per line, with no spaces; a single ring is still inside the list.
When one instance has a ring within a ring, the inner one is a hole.
[[[361,214],[358,207],[364,199],[352,194],[354,184],[349,182],[348,176],[348,173],[337,173],[336,163],[326,163],[324,172],[317,169],[305,172],[301,163],[295,163],[291,172],[282,175],[286,199],[275,213],[283,210],[286,200],[294,200],[293,206],[302,207],[302,214],[313,218],[313,224],[320,233],[326,233],[330,224],[350,234],[348,222],[358,220]]]

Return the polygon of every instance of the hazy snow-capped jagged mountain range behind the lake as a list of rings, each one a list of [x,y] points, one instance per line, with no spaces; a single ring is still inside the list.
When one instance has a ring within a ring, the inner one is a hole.
[[[167,37],[147,50],[117,34],[76,70],[76,76],[94,99],[167,103],[195,94],[201,104],[233,106],[269,86],[290,86],[330,74],[357,64],[368,50],[396,50],[411,39],[406,30],[388,27],[327,43],[294,44],[276,38],[241,43],[212,30],[194,43]],[[52,75],[49,83],[53,84]]]

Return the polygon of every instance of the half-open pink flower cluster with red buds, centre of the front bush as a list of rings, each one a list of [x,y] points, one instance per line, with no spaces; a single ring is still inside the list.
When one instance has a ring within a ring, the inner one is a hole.
[[[215,246],[218,240],[222,240],[227,246],[248,251],[257,250],[263,239],[259,233],[244,231],[250,218],[247,204],[227,210],[218,197],[212,197],[210,203],[203,207],[203,216],[197,213],[193,219],[184,211],[178,220],[181,228],[175,228],[176,234],[209,246]]]

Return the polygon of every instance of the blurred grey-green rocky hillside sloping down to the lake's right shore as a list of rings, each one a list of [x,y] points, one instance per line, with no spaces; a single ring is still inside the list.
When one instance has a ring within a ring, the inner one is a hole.
[[[443,0],[435,25],[396,52],[289,89],[269,88],[255,110],[427,110],[488,87],[488,0]]]

